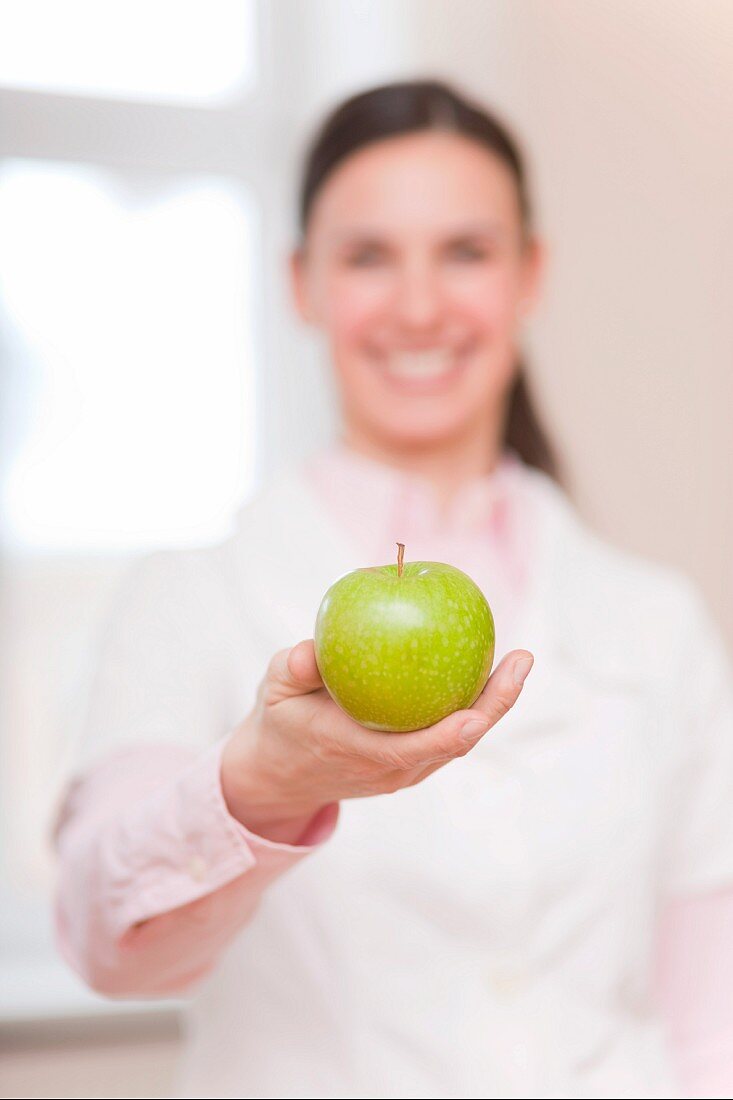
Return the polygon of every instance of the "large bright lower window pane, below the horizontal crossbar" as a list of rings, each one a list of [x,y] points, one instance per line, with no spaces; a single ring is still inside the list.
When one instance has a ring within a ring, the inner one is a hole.
[[[0,170],[6,544],[215,540],[252,488],[253,205],[219,178]]]

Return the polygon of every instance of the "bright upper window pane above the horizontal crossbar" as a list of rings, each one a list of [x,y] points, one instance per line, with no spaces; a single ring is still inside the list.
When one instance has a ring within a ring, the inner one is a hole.
[[[7,0],[0,84],[216,106],[255,78],[253,0]]]

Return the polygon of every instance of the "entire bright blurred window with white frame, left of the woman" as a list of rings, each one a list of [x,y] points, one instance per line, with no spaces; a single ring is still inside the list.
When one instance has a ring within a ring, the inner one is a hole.
[[[107,600],[133,556],[226,535],[258,481],[270,23],[256,0],[3,8],[0,1019],[99,1004],[55,956],[47,835]]]

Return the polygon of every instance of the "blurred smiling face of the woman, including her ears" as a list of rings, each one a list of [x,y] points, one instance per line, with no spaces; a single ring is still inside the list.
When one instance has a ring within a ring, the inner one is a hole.
[[[347,425],[392,446],[437,443],[488,417],[499,431],[538,272],[510,169],[436,132],[378,142],[336,168],[293,262]]]

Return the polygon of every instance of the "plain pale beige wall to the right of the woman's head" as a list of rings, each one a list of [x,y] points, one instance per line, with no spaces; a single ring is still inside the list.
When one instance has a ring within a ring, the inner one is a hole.
[[[534,375],[583,512],[733,641],[733,6],[425,0],[424,67],[515,124],[548,238]]]

